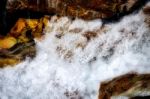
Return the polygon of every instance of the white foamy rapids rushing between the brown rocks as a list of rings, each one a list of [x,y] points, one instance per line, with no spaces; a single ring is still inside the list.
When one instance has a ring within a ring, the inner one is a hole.
[[[0,99],[97,99],[119,75],[150,73],[150,29],[142,12],[118,23],[53,16],[37,55],[0,70]],[[96,36],[88,39],[87,32]]]

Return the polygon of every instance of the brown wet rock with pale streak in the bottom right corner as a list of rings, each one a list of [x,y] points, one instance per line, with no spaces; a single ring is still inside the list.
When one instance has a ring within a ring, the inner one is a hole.
[[[126,74],[103,82],[100,85],[99,99],[111,99],[112,96],[131,98],[140,94],[150,95],[150,74]]]

